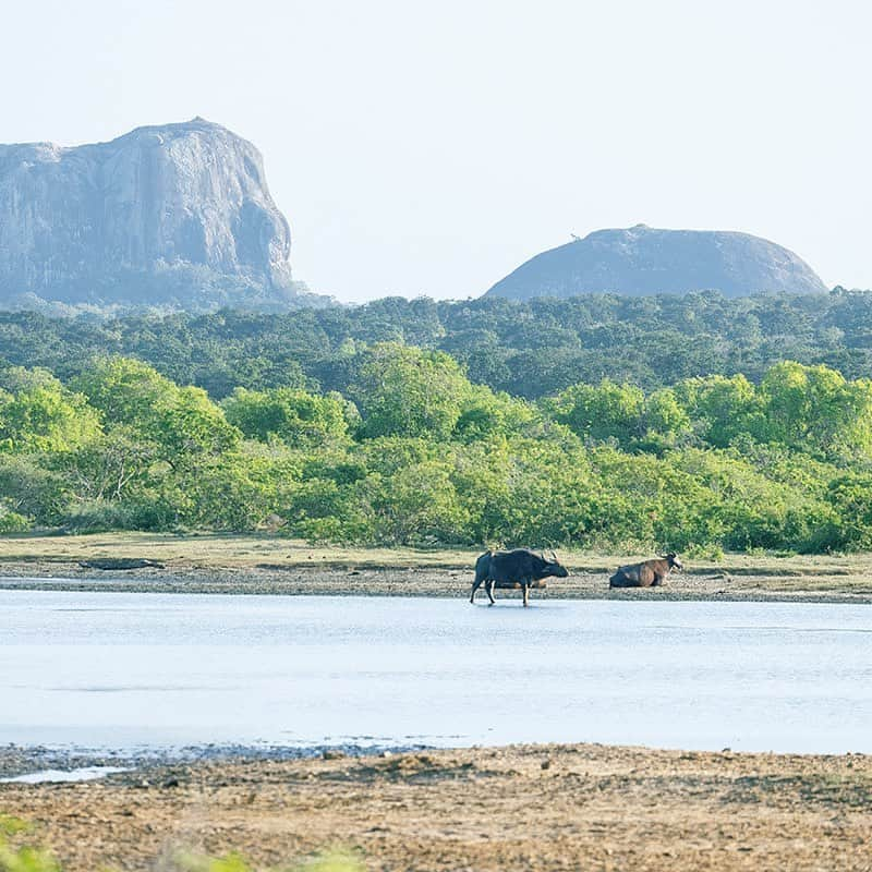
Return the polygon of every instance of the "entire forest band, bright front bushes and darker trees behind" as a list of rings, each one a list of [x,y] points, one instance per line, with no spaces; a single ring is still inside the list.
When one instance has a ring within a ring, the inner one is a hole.
[[[870,303],[7,314],[0,530],[869,548]]]

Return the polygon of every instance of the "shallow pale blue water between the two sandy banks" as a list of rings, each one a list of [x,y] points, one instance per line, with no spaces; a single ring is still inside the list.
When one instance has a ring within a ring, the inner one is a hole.
[[[872,607],[0,591],[0,743],[872,752]]]

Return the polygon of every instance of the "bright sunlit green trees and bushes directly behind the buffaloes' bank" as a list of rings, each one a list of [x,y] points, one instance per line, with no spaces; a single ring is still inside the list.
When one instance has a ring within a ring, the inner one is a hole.
[[[432,348],[372,342],[354,361],[341,391],[294,376],[220,397],[131,356],[61,377],[5,365],[0,530],[269,528],[313,542],[691,554],[872,546],[864,377],[780,361],[756,382],[602,378],[533,400],[476,384]]]

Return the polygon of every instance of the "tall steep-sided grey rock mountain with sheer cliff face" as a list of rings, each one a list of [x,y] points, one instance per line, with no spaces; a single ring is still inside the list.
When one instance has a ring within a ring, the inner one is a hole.
[[[259,152],[202,118],[72,148],[0,145],[0,301],[311,302],[290,251]]]

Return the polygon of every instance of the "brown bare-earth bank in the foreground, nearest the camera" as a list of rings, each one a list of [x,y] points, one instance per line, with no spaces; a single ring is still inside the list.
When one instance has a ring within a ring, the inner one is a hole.
[[[329,845],[372,870],[869,870],[872,758],[524,746],[162,765],[0,785],[70,872],[179,848],[258,869]]]

